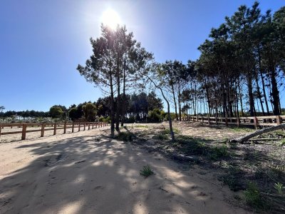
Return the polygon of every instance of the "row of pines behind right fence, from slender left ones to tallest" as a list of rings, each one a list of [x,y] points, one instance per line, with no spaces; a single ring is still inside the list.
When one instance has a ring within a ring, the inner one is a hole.
[[[197,61],[166,61],[157,78],[175,109],[209,116],[280,115],[284,90],[285,7],[262,15],[240,6],[199,46]]]

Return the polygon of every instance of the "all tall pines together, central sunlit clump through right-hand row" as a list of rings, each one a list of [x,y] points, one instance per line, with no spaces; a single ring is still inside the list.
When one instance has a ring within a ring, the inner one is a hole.
[[[150,87],[182,113],[209,116],[250,116],[281,113],[279,91],[285,65],[285,7],[261,14],[259,4],[240,6],[224,24],[212,29],[197,61],[156,63],[153,55],[125,26],[101,26],[101,36],[90,39],[93,55],[77,70],[95,83],[110,101],[111,134],[120,131],[127,114],[128,91]],[[259,109],[260,107],[260,109]],[[145,118],[145,113],[139,113]],[[172,139],[174,135],[172,133]]]

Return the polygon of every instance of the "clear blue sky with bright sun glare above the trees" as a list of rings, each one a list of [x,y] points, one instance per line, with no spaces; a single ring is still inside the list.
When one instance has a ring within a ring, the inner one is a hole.
[[[284,0],[259,1],[261,11]],[[80,76],[100,36],[104,11],[112,9],[155,60],[199,58],[197,47],[212,27],[250,0],[1,0],[0,106],[6,111],[48,111],[53,105],[96,101],[102,93]],[[283,102],[284,103],[284,102]],[[284,106],[284,105],[282,105]]]

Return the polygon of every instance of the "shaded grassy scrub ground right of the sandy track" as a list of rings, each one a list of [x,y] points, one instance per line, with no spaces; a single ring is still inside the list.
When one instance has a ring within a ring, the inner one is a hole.
[[[229,138],[242,136],[252,131],[249,128],[225,128],[217,126],[210,131],[220,133],[220,137],[203,137],[198,129],[185,128],[175,123],[176,138],[171,141],[169,130],[161,125],[147,125],[143,131],[130,127],[130,133],[138,136],[133,143],[148,151],[160,152],[191,168],[199,167],[212,171],[224,185],[234,193],[237,203],[249,209],[270,213],[282,213],[284,208],[284,148],[279,143],[259,141],[259,144],[230,143]],[[205,127],[207,133],[207,128]],[[221,130],[222,129],[222,130]],[[284,139],[284,131],[271,133],[277,142]],[[268,135],[260,137],[268,138]],[[184,158],[183,158],[184,157]],[[242,197],[239,197],[242,195]],[[243,202],[243,203],[242,203]]]

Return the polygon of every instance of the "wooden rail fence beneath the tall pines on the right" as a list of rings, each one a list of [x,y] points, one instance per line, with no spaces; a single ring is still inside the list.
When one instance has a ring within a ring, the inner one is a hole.
[[[285,123],[285,116],[257,116],[257,117],[204,117],[204,116],[190,116],[189,121],[211,124],[224,124],[226,126],[235,125],[240,126],[277,126]]]

